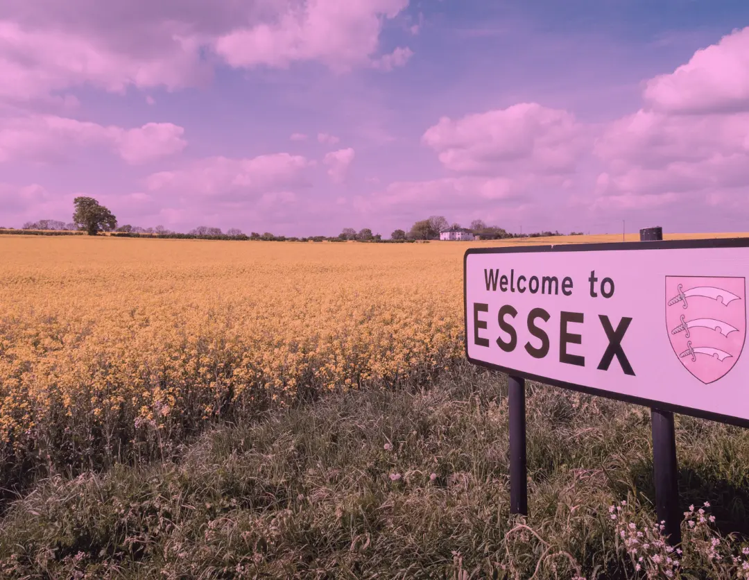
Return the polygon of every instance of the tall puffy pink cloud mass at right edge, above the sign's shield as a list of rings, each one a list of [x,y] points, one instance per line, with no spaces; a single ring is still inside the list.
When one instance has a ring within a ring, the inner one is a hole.
[[[652,207],[749,187],[749,28],[651,79],[643,100],[595,144],[598,195]]]

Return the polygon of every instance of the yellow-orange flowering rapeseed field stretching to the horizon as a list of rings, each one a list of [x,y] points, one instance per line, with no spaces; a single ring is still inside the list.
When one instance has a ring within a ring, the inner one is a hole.
[[[469,245],[0,236],[0,462],[148,455],[300,393],[423,381],[462,356]]]

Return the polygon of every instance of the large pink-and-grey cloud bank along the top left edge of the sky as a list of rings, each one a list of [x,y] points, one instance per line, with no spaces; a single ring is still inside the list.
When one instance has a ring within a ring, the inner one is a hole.
[[[335,70],[376,61],[386,19],[408,0],[4,0],[0,100],[28,103],[91,86],[177,90],[213,64]]]

